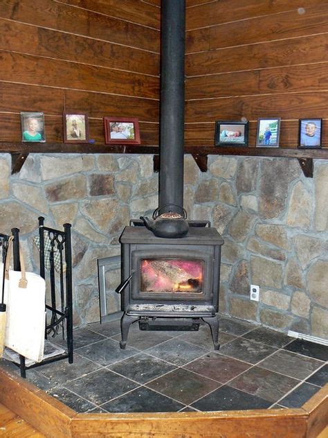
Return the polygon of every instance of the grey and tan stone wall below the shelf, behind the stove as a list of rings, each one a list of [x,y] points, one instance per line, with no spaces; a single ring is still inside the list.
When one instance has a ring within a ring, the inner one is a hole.
[[[185,157],[185,208],[225,238],[220,311],[274,329],[328,339],[328,161],[305,178],[296,159],[209,157],[201,173]],[[0,231],[21,229],[29,269],[37,217],[73,225],[75,326],[99,319],[97,259],[120,254],[130,218],[157,207],[151,155],[30,155],[10,176],[0,155]],[[119,272],[109,276],[119,283]],[[259,303],[249,285],[260,286]],[[111,311],[119,310],[110,294]]]

